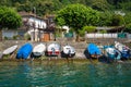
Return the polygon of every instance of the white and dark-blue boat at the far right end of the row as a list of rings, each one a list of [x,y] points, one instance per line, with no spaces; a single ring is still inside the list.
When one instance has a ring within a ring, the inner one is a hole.
[[[126,45],[115,41],[115,48],[121,52],[123,59],[129,59],[131,57],[130,48],[127,47]]]

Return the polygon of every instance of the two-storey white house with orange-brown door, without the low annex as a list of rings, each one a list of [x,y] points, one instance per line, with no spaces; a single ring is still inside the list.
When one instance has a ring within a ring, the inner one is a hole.
[[[19,29],[26,30],[31,35],[32,41],[53,40],[53,15],[41,18],[32,13],[20,12],[20,14],[22,15],[23,26]]]

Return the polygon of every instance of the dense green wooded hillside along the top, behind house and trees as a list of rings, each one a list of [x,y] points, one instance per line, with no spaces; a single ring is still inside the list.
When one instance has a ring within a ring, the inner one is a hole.
[[[56,13],[67,4],[81,3],[98,11],[131,11],[131,0],[0,0],[0,5],[15,8],[17,11],[32,12],[37,15]]]

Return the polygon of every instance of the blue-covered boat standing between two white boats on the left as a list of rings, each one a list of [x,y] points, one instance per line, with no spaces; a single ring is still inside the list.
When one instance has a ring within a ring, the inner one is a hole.
[[[23,45],[16,53],[16,59],[27,59],[32,50],[33,50],[33,46],[31,44],[27,42]]]

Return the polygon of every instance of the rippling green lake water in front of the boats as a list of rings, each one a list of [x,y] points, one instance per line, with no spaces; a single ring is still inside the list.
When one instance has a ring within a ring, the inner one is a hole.
[[[0,62],[0,87],[130,87],[131,62]]]

